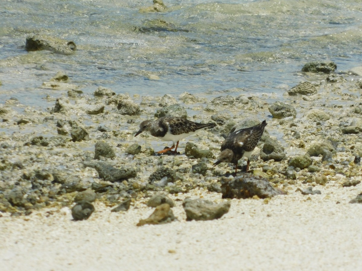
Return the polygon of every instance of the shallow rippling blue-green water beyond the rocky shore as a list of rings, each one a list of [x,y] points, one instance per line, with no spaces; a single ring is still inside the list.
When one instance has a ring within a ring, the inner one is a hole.
[[[152,1],[2,1],[0,99],[54,106],[45,97],[66,90],[42,84],[63,71],[88,94],[104,86],[141,96],[246,91],[282,100],[288,87],[305,81],[300,70],[308,61],[332,60],[338,71],[361,65],[360,1],[164,4],[165,12],[140,13]],[[173,31],[151,29],[154,20]],[[34,33],[73,40],[78,50],[26,52],[26,37]],[[160,80],[148,80],[150,74]]]

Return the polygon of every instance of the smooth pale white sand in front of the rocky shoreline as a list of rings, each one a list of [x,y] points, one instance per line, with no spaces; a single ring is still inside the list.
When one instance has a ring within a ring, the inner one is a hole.
[[[294,188],[293,188],[294,189]],[[321,195],[232,199],[219,220],[180,221],[136,227],[152,212],[142,203],[110,212],[95,203],[85,221],[72,221],[70,209],[0,218],[1,270],[361,270],[362,204],[350,204],[361,184],[316,186]],[[205,190],[188,196],[220,202]],[[336,204],[339,201],[340,204]],[[49,211],[49,210],[48,210]]]

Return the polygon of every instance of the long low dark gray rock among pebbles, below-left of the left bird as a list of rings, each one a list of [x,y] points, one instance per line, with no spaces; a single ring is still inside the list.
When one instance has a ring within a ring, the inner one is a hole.
[[[104,162],[91,162],[87,161],[83,163],[86,167],[96,169],[100,178],[105,181],[116,182],[122,181],[137,176],[137,172],[134,168],[115,168],[109,163]]]

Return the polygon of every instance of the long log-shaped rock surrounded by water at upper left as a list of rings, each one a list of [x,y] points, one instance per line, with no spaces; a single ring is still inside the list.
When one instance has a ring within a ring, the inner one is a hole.
[[[77,50],[73,41],[68,41],[54,36],[34,35],[26,38],[26,51],[49,50],[62,55],[71,55]]]

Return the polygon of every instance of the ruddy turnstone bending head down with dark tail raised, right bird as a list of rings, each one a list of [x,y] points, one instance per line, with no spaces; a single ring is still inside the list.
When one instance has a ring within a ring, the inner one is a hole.
[[[222,162],[235,164],[235,173],[237,170],[237,162],[243,156],[248,158],[247,171],[249,170],[249,157],[252,151],[255,149],[258,141],[260,140],[266,121],[262,121],[259,124],[232,132],[222,143],[221,153],[219,159],[214,163],[218,165]]]

